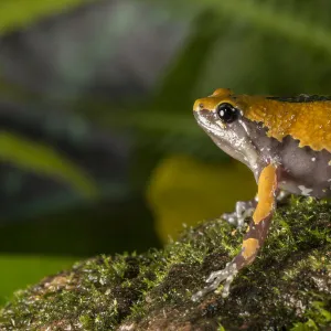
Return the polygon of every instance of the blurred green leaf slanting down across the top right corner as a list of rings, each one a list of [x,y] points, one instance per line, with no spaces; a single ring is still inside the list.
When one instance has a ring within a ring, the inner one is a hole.
[[[190,4],[201,6],[200,1],[186,2],[188,7]],[[250,23],[265,32],[280,34],[293,42],[331,54],[330,26],[327,25],[327,20],[317,19],[322,15],[322,12],[321,15],[317,13],[318,9],[328,10],[327,2],[321,6],[316,3],[313,10],[312,6],[305,6],[305,1],[280,3],[279,1],[259,0],[205,0],[203,3],[232,21],[239,21],[242,24]],[[311,12],[313,15],[309,18]]]

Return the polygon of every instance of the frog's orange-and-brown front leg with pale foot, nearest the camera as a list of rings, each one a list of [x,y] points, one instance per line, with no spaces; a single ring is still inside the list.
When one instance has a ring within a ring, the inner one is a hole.
[[[205,293],[217,289],[223,280],[225,280],[225,284],[222,295],[224,297],[228,295],[229,285],[236,274],[253,263],[267,237],[273,213],[276,209],[277,191],[277,167],[269,164],[263,169],[259,175],[257,193],[258,203],[254,211],[248,231],[244,236],[241,253],[228,263],[223,270],[214,271],[206,279],[206,282],[210,285],[193,295],[193,301],[196,301]]]

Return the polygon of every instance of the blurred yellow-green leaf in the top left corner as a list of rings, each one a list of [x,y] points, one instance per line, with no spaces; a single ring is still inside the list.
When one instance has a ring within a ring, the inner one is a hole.
[[[0,33],[15,30],[46,15],[60,13],[92,0],[1,0]]]

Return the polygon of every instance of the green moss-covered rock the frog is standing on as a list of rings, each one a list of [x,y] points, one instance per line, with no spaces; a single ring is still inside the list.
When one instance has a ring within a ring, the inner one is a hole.
[[[2,309],[0,330],[327,330],[330,217],[331,204],[312,199],[278,209],[259,256],[225,299],[190,299],[241,249],[243,233],[213,220],[162,250],[100,256],[43,279]]]

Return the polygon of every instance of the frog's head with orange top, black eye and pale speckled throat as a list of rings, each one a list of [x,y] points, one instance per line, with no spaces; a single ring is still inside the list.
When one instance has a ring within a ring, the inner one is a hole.
[[[211,96],[197,99],[193,114],[197,124],[227,154],[245,163],[255,175],[259,167],[256,146],[260,128],[244,116],[247,99],[233,95],[231,89],[218,88]]]

